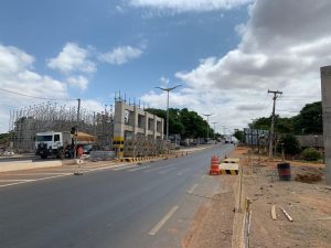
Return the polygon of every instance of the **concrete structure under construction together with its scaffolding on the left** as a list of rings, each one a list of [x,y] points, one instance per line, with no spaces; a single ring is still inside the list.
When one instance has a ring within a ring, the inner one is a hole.
[[[34,137],[44,131],[70,131],[73,127],[95,136],[100,150],[114,150],[117,157],[145,157],[169,153],[163,140],[162,118],[140,106],[115,98],[115,111],[105,107],[96,112],[53,103],[10,111],[10,133],[17,152],[34,152]],[[78,116],[78,118],[77,118]]]

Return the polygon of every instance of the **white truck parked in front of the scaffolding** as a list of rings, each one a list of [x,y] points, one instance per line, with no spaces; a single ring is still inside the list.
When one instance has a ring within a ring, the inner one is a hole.
[[[68,131],[64,132],[39,132],[35,136],[35,154],[42,159],[47,157],[56,157],[65,159],[74,151],[72,134]]]

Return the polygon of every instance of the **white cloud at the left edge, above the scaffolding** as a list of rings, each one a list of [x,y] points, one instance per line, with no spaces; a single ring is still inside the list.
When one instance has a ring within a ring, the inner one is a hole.
[[[0,132],[8,131],[10,109],[45,101],[22,95],[51,99],[68,98],[67,85],[47,75],[35,73],[33,63],[34,57],[24,51],[0,45]]]

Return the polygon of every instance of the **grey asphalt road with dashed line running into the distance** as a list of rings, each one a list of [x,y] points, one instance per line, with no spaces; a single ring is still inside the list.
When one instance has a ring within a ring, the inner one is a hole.
[[[204,196],[218,188],[206,175],[211,155],[231,150],[0,188],[0,247],[181,247]]]

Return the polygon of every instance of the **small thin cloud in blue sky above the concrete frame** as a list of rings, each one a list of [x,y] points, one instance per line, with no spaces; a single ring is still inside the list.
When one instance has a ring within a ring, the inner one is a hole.
[[[140,57],[141,54],[142,50],[138,47],[132,47],[129,45],[119,46],[108,53],[100,54],[99,60],[113,65],[121,65],[128,63],[134,58]]]

